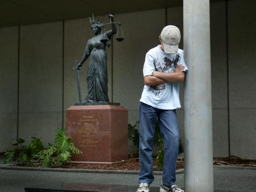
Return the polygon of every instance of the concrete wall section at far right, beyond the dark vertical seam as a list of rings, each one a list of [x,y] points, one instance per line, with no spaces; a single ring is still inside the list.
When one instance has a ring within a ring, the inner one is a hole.
[[[230,153],[248,159],[256,159],[254,7],[255,1],[228,1]]]

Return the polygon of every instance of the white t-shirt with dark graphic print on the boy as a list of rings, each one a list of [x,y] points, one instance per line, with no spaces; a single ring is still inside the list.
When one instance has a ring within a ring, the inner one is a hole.
[[[173,73],[175,67],[184,65],[183,50],[178,49],[177,54],[166,53],[161,50],[160,45],[148,51],[143,67],[143,75],[152,75],[154,71],[164,73]],[[179,82],[167,82],[161,85],[144,86],[140,102],[159,109],[176,109],[180,108],[179,101]]]

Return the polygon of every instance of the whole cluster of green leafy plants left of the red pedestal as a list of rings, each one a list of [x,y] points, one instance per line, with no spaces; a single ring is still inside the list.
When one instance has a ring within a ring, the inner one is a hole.
[[[71,161],[71,153],[81,154],[66,136],[65,129],[58,128],[55,135],[55,145],[49,143],[48,149],[44,149],[40,139],[32,137],[28,147],[22,146],[24,138],[19,138],[13,142],[13,151],[7,151],[4,156],[4,163],[17,162],[33,166],[32,160],[38,160],[41,167],[52,167],[54,164],[65,164]]]

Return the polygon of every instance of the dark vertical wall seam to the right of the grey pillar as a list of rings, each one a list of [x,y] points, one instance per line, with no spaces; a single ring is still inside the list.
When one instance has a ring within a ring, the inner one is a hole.
[[[228,0],[226,0],[226,51],[227,51],[227,90],[228,90],[228,155],[230,156],[230,108],[229,108],[229,67],[228,67]]]

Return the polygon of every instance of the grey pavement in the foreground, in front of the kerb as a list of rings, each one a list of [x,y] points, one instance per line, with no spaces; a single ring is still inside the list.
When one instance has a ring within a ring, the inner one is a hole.
[[[2,163],[2,157],[0,157]],[[7,170],[0,168],[0,192],[24,192],[25,186],[39,185],[50,182],[74,182],[137,185],[137,174],[127,173],[90,173],[66,171],[35,171]],[[177,174],[177,184],[184,186],[184,173]],[[151,186],[159,186],[161,175],[155,175]],[[256,168],[226,168],[214,167],[215,190],[230,190],[237,192],[256,192]]]

